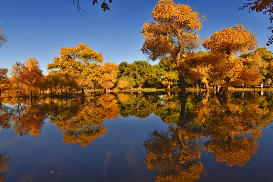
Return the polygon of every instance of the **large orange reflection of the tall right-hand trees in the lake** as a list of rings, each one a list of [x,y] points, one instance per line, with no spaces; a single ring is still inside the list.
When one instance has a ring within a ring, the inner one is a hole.
[[[199,179],[204,171],[199,161],[202,148],[225,165],[244,166],[256,154],[261,127],[272,120],[264,102],[227,102],[227,98],[209,97],[209,93],[197,103],[182,98],[180,105],[179,122],[174,120],[176,124],[168,131],[153,131],[143,144],[148,151],[145,163],[148,169],[158,171],[157,181]]]

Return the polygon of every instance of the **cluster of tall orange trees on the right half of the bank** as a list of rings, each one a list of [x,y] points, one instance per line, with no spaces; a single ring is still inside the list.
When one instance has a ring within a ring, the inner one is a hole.
[[[241,24],[205,37],[203,47],[208,52],[194,54],[194,49],[199,47],[197,31],[201,29],[204,16],[172,0],[160,0],[151,16],[153,21],[145,23],[141,31],[145,38],[141,50],[153,61],[166,55],[174,60],[183,96],[186,96],[185,84],[189,78],[220,84],[219,96],[226,96],[232,79],[257,84],[262,79],[260,73],[271,75],[270,69],[266,69],[268,62],[257,52],[246,59],[236,57],[238,53],[256,49],[258,44],[256,36]],[[190,73],[196,75],[190,76]]]

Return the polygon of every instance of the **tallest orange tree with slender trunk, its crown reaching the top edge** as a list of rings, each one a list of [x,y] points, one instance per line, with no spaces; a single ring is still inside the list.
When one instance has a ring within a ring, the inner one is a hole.
[[[179,82],[183,96],[186,96],[185,70],[188,69],[187,53],[198,45],[204,19],[187,5],[174,4],[172,0],[160,0],[152,11],[153,21],[146,22],[141,30],[145,42],[141,51],[151,60],[162,56],[171,56],[179,73]]]

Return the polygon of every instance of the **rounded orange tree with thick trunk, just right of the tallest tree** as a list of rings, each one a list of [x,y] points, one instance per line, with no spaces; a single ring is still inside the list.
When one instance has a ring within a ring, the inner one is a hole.
[[[226,96],[231,78],[236,77],[242,69],[240,58],[234,57],[236,53],[244,53],[257,47],[256,35],[238,24],[235,27],[224,28],[205,37],[203,46],[210,51],[208,64],[212,66],[213,79],[221,80],[219,96]]]

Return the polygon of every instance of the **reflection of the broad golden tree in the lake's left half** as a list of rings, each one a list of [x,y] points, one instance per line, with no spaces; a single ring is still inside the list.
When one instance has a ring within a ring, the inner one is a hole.
[[[81,103],[55,105],[54,108],[57,112],[49,119],[63,132],[64,143],[80,143],[83,147],[104,134],[105,119],[119,116],[118,103],[110,94],[91,97]]]

